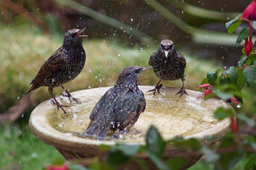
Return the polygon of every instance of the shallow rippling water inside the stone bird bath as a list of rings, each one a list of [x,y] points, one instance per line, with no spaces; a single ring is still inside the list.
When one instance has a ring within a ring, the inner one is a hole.
[[[143,86],[143,93],[146,99],[145,111],[140,115],[138,121],[130,131],[125,133],[109,133],[105,140],[116,140],[117,142],[141,143],[145,141],[145,133],[150,125],[154,125],[160,131],[164,139],[171,139],[174,136],[189,136],[199,133],[209,127],[214,126],[218,121],[213,117],[213,111],[220,105],[225,105],[221,100],[215,100],[211,103],[211,99],[204,101],[197,99],[201,95],[183,95],[180,99],[175,96],[175,92],[170,93],[169,89],[161,90],[162,93],[146,93],[151,87]],[[140,88],[140,87],[139,87]],[[76,92],[77,98],[82,104],[70,104],[63,98],[62,105],[69,105],[66,108],[67,115],[58,111],[56,106],[52,105],[52,112],[49,114],[49,122],[56,130],[62,133],[76,135],[76,132],[82,133],[90,123],[90,113],[96,102],[109,89],[100,88],[89,89],[86,93]],[[50,101],[49,101],[50,102]],[[228,107],[228,106],[227,106]],[[113,138],[119,136],[119,138]]]

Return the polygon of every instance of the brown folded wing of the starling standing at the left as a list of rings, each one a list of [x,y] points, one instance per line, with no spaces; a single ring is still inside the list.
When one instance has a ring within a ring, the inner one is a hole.
[[[45,78],[54,74],[55,71],[63,65],[65,62],[63,56],[59,53],[52,54],[52,56],[44,62],[35,79],[32,80],[30,84],[35,84],[37,82],[43,81]]]

